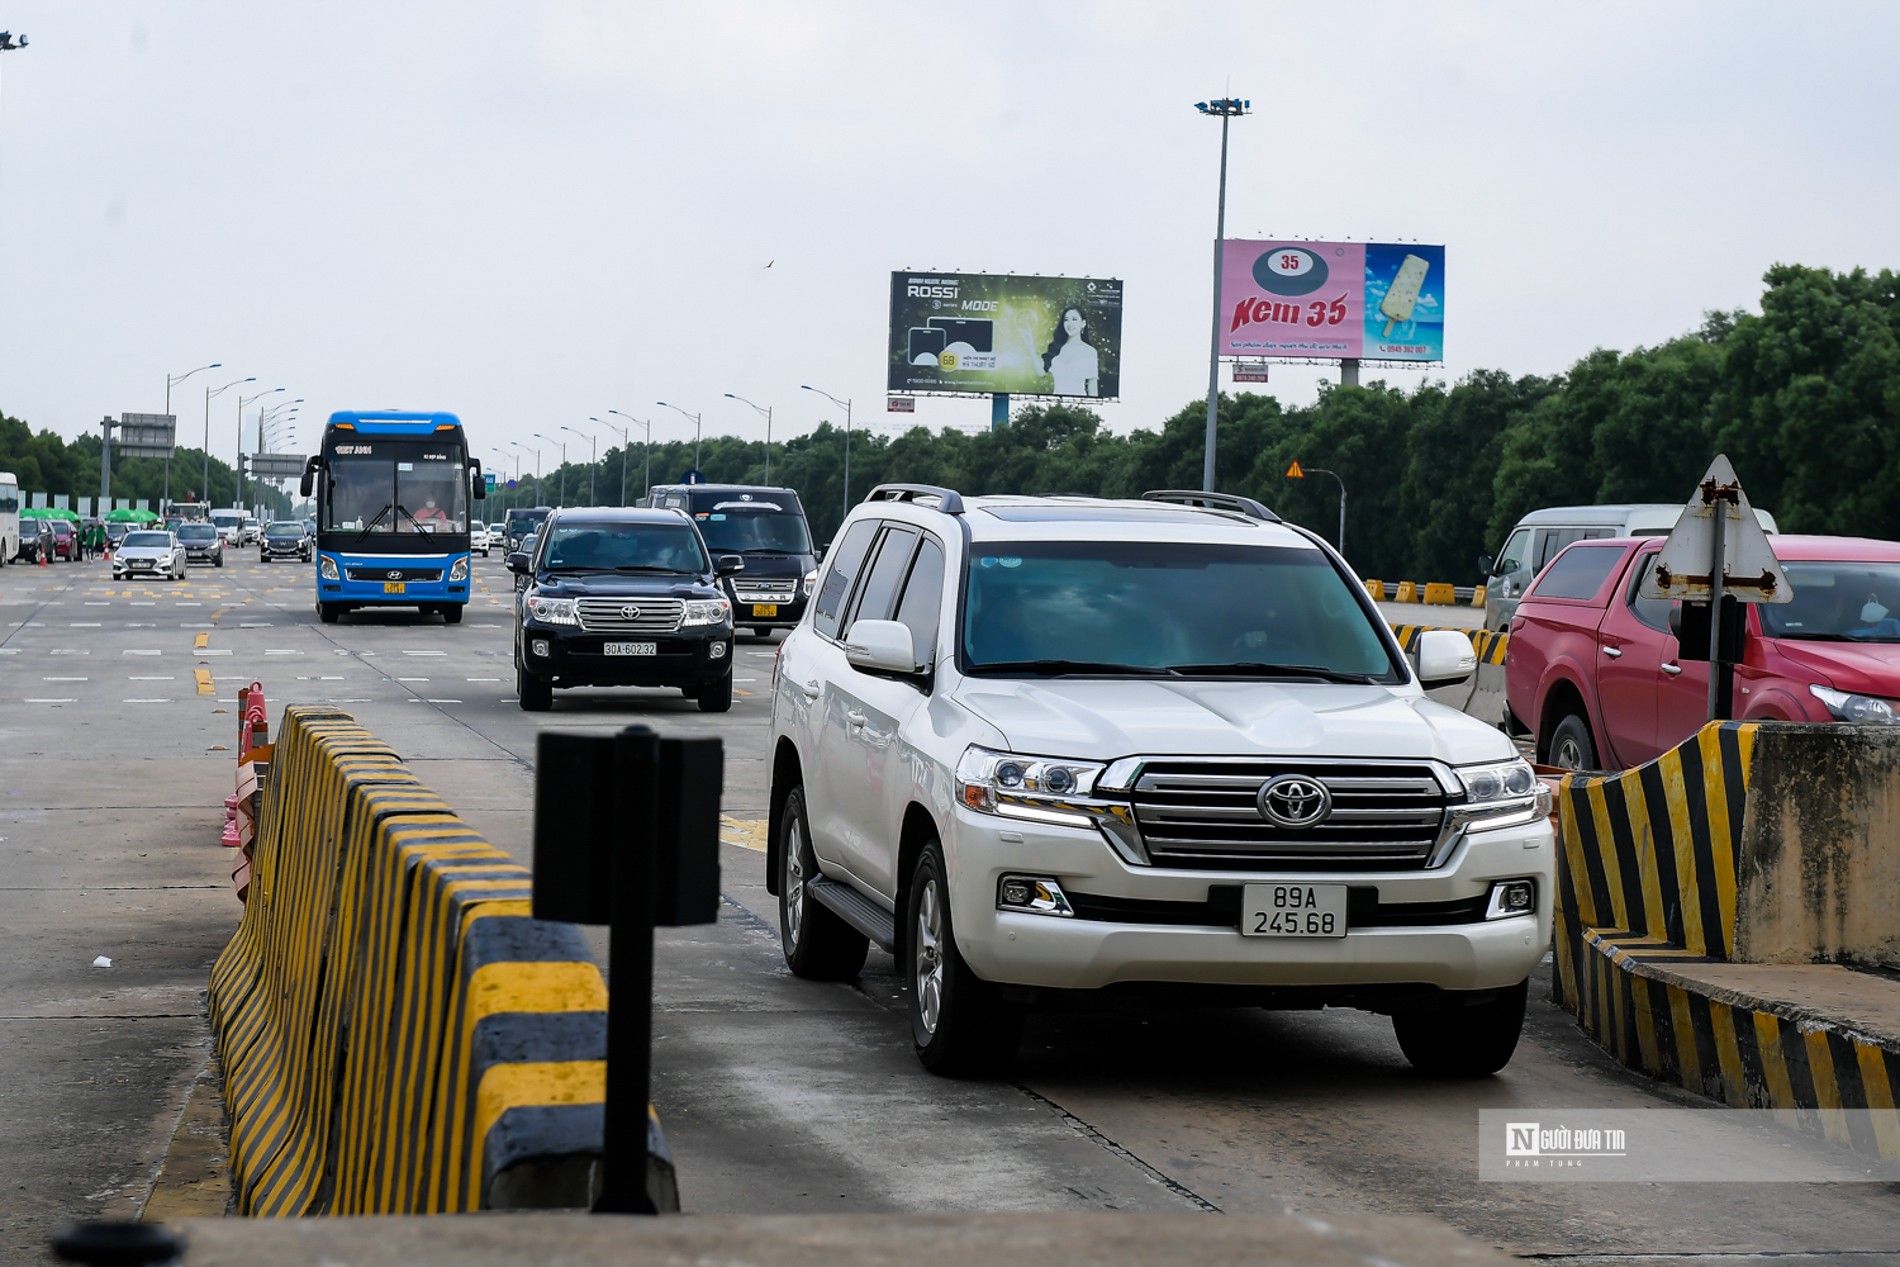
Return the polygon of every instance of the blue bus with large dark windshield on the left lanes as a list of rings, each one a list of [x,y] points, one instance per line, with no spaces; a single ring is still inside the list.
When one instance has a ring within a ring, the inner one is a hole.
[[[486,496],[454,414],[338,412],[304,465],[317,500],[317,615],[422,608],[462,621],[471,501]]]

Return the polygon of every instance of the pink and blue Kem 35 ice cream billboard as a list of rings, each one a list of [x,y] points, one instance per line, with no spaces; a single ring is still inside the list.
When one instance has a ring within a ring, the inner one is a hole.
[[[1226,241],[1224,357],[1444,361],[1444,247]]]

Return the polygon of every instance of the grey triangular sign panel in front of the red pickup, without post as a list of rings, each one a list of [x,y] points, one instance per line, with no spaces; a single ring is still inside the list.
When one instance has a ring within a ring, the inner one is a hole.
[[[1642,583],[1644,598],[1710,602],[1716,524],[1721,524],[1721,593],[1737,602],[1792,602],[1794,587],[1775,558],[1761,520],[1725,454],[1716,454],[1662,553]]]

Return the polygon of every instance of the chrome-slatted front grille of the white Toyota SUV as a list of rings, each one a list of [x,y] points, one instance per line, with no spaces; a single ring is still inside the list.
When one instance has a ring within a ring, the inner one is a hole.
[[[1322,783],[1332,813],[1307,828],[1269,821],[1260,788],[1281,775]],[[1188,868],[1423,868],[1452,805],[1431,766],[1383,762],[1144,762],[1130,800],[1153,862]]]

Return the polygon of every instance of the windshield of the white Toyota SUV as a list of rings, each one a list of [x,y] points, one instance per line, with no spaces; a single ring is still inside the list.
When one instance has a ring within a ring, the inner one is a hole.
[[[1258,545],[978,543],[963,652],[971,672],[1404,680],[1324,555]]]

